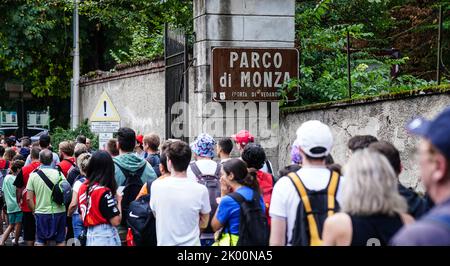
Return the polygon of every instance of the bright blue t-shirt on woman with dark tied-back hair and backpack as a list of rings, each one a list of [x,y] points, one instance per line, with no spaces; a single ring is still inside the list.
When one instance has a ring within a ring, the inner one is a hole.
[[[242,186],[236,190],[236,192],[241,194],[246,200],[251,200],[253,198],[253,190],[249,187]],[[265,213],[266,208],[262,196],[260,198],[260,204],[263,213]],[[233,198],[230,196],[222,198],[217,211],[217,220],[225,226],[225,233],[231,233],[233,235],[239,234],[240,210],[241,207],[239,206],[239,203]]]

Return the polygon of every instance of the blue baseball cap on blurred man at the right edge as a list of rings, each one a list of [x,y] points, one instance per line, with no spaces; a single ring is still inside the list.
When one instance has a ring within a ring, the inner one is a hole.
[[[450,108],[434,120],[415,118],[406,126],[408,132],[429,140],[447,159],[450,159]]]

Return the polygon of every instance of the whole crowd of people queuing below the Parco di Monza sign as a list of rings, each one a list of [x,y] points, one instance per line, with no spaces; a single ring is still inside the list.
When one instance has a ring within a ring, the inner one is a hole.
[[[450,245],[450,108],[407,130],[422,139],[423,195],[400,183],[392,143],[354,136],[341,166],[317,120],[298,128],[277,173],[247,130],[188,144],[120,128],[104,150],[79,136],[58,153],[49,135],[3,138],[0,245]]]

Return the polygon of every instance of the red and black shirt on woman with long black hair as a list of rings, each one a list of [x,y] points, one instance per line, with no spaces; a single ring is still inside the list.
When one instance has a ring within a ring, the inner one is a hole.
[[[78,206],[84,226],[90,227],[109,224],[111,218],[120,215],[111,190],[107,187],[94,184],[89,189],[88,204],[86,200],[88,198],[86,195],[87,182],[84,182],[78,190]],[[86,211],[87,208],[89,209]]]

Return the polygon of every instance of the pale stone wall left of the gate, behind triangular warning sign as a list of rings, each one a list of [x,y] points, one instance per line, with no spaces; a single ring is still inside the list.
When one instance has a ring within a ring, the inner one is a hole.
[[[106,72],[80,80],[81,119],[90,118],[98,98],[106,91],[119,112],[121,126],[137,133],[165,136],[164,61]]]

